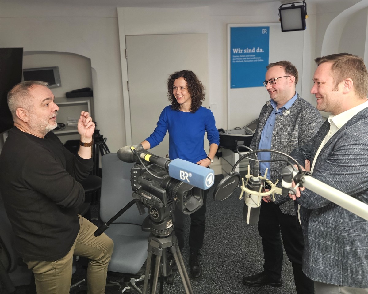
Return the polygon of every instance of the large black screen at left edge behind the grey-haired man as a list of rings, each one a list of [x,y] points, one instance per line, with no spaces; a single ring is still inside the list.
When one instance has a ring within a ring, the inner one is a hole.
[[[22,81],[23,48],[0,48],[0,134],[13,128],[9,90]]]

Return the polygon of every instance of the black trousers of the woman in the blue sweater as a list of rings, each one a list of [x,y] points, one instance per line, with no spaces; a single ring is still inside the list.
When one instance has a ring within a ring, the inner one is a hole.
[[[204,190],[203,205],[190,215],[189,248],[198,251],[202,248],[206,229],[206,199],[208,190]],[[179,248],[182,250],[184,241],[184,217],[178,206],[174,211],[174,232],[178,238]]]

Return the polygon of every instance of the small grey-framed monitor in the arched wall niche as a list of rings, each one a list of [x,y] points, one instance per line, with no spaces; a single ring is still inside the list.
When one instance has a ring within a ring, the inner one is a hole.
[[[24,68],[24,80],[40,80],[49,83],[49,88],[61,86],[59,67]]]

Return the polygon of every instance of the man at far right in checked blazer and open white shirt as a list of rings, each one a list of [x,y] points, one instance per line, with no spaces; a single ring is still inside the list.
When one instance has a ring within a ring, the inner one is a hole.
[[[317,134],[290,155],[313,178],[368,203],[368,73],[362,58],[339,53],[317,58],[311,93],[331,112]],[[308,167],[307,167],[308,170]],[[302,190],[301,188],[300,190]],[[368,293],[368,222],[304,189],[300,207],[303,272],[316,294]]]

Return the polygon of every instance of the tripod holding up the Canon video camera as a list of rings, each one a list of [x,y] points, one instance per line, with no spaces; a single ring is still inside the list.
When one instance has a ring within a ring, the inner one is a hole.
[[[173,219],[171,218],[171,216],[167,216],[162,222],[158,223],[154,221],[155,219],[157,220],[159,216],[162,215],[162,213],[164,215],[164,209],[165,207],[151,207],[149,209],[151,234],[148,237],[148,255],[142,293],[147,293],[150,270],[150,293],[156,293],[159,275],[160,294],[163,293],[163,277],[168,277],[170,273],[172,273],[172,268],[174,265],[171,264],[170,260],[167,259],[167,250],[170,250],[178,268],[178,272],[181,278],[181,282],[183,283],[185,293],[193,294],[188,273],[185,269],[183,257],[181,256],[181,252],[178,246],[178,239],[173,232]]]

